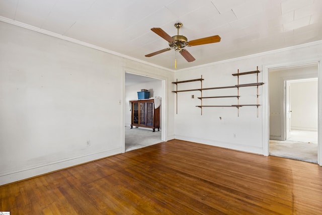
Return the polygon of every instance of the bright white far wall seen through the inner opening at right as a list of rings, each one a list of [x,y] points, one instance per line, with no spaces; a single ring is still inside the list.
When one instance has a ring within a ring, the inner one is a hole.
[[[291,82],[290,89],[291,129],[317,131],[317,79]]]

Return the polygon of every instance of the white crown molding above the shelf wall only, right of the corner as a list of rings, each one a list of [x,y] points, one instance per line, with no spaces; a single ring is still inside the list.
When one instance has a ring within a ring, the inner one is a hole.
[[[289,47],[286,47],[286,48],[275,49],[275,50],[271,50],[271,51],[260,52],[260,53],[256,53],[256,54],[250,54],[250,55],[241,56],[241,57],[235,57],[235,58],[231,58],[231,59],[216,61],[216,62],[207,63],[207,64],[203,64],[203,65],[198,65],[198,66],[193,66],[193,67],[189,67],[189,68],[178,69],[178,70],[176,70],[176,72],[178,72],[178,71],[188,71],[188,70],[207,67],[207,66],[212,66],[212,65],[216,65],[216,64],[233,62],[233,61],[236,61],[236,60],[245,60],[245,59],[252,58],[252,57],[258,57],[258,56],[263,56],[263,55],[268,55],[268,54],[275,54],[275,53],[278,53],[278,52],[290,51],[290,50],[294,50],[294,49],[298,49],[298,48],[305,48],[305,47],[319,45],[319,44],[322,44],[322,40],[317,40],[317,41],[314,41],[314,42],[304,43],[304,44],[295,45],[295,46],[289,46]]]

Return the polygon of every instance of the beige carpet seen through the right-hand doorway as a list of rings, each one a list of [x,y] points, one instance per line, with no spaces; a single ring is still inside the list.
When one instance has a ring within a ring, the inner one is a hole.
[[[317,132],[292,130],[286,141],[270,140],[270,155],[317,163]]]

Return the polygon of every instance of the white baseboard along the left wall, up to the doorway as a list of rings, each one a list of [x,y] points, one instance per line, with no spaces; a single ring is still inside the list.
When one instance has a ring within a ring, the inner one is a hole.
[[[53,171],[61,170],[64,168],[72,167],[75,165],[84,164],[84,163],[105,158],[108,156],[117,155],[120,153],[122,153],[122,148],[115,148],[115,149],[111,149],[103,152],[93,153],[90,155],[55,161],[55,162],[35,166],[28,169],[16,170],[10,173],[3,173],[3,174],[0,173],[0,186],[4,184],[9,184],[12,182],[24,180],[27,178],[35,177],[38,175],[50,173]]]

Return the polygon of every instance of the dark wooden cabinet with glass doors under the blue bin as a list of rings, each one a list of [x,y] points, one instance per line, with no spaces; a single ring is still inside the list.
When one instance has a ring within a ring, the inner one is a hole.
[[[148,127],[152,128],[153,132],[155,128],[160,128],[160,107],[154,109],[154,100],[135,100],[131,102],[131,128],[136,127]]]

